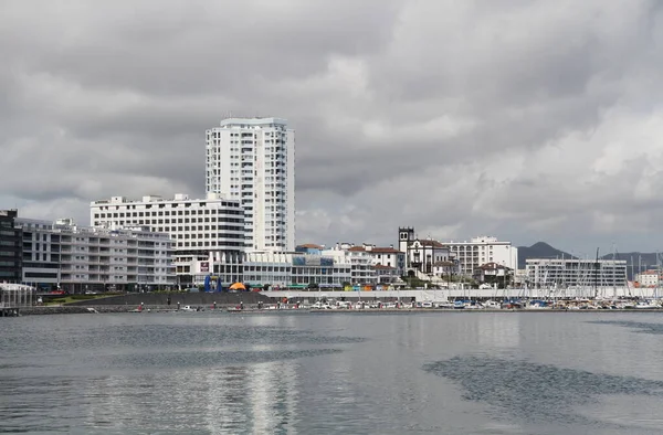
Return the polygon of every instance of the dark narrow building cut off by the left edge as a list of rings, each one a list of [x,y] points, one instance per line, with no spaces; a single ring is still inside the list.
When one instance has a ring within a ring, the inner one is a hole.
[[[21,283],[21,230],[14,225],[17,210],[0,210],[0,283]]]

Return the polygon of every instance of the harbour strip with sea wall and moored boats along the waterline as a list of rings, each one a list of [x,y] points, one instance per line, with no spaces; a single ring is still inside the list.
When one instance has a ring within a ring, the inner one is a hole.
[[[106,295],[40,294],[3,285],[0,316],[114,312],[558,312],[655,311],[657,288],[423,288],[392,290],[155,291]]]

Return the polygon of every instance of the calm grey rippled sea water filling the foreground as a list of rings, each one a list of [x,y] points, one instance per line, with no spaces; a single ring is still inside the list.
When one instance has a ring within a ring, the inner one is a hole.
[[[660,314],[0,319],[0,432],[659,434]]]

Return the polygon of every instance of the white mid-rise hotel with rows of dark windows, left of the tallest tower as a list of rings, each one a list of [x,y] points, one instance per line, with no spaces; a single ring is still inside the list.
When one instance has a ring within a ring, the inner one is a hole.
[[[230,279],[241,277],[239,264],[245,247],[244,211],[240,201],[213,193],[206,199],[178,193],[173,199],[150,195],[139,201],[113,197],[92,202],[90,220],[94,226],[140,225],[169,234],[181,286],[201,284],[211,272],[211,261],[227,262]]]

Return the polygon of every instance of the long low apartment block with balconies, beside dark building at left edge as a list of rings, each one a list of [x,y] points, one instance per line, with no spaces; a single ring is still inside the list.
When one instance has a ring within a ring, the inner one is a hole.
[[[175,285],[172,242],[148,229],[77,226],[71,220],[17,217],[23,236],[23,283],[63,290],[138,290]]]

